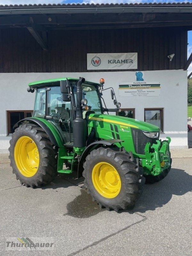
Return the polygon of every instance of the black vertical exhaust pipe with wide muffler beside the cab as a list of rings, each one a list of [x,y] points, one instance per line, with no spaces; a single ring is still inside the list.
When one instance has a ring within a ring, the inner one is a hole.
[[[80,78],[77,82],[77,104],[76,119],[73,121],[73,147],[84,148],[86,146],[86,120],[83,119],[81,100],[82,100],[82,83],[85,79]]]

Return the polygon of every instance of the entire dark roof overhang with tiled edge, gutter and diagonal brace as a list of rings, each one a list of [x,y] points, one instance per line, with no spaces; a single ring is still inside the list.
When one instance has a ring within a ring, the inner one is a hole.
[[[27,28],[47,50],[48,30],[182,27],[192,29],[192,3],[0,5],[1,28]]]

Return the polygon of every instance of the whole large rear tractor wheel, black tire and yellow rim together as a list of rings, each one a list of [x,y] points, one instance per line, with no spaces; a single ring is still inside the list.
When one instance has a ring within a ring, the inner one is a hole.
[[[12,134],[9,152],[13,173],[22,185],[40,187],[55,178],[57,151],[41,127],[19,126]]]

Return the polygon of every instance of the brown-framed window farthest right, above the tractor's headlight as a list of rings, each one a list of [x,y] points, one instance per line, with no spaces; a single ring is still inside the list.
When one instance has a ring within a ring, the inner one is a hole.
[[[163,132],[163,108],[145,108],[145,122],[158,126]]]

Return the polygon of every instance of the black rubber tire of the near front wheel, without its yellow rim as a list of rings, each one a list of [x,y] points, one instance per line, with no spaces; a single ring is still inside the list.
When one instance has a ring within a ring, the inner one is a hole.
[[[120,209],[133,208],[142,193],[145,181],[142,182],[144,177],[139,173],[137,164],[130,158],[128,154],[114,151],[111,148],[95,149],[86,157],[83,165],[84,184],[88,188],[88,193],[92,195],[93,201],[97,201],[100,207],[105,207],[107,210],[114,209],[116,212]],[[118,195],[113,198],[104,197],[93,185],[93,167],[101,162],[111,164],[119,174],[121,187]]]

